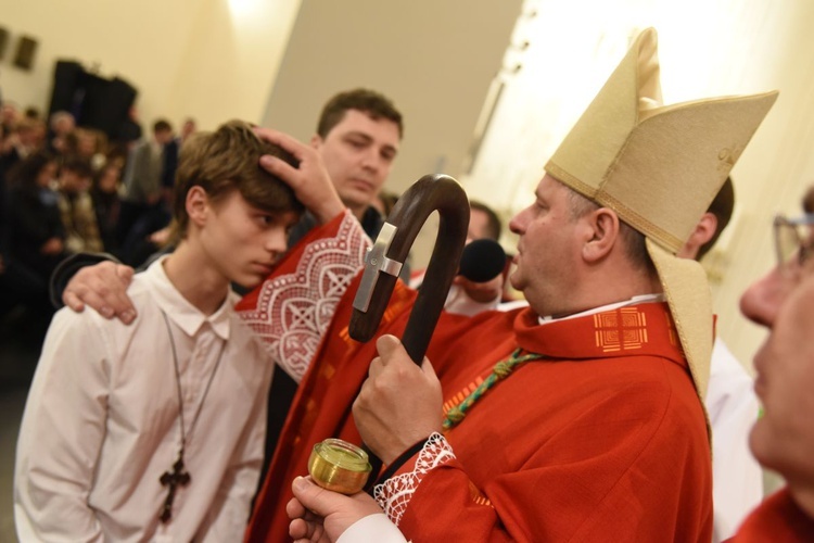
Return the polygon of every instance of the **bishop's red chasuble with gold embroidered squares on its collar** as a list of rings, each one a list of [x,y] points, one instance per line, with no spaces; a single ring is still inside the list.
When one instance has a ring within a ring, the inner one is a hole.
[[[291,481],[307,472],[315,443],[329,437],[360,443],[351,405],[376,342],[347,336],[357,281],[335,306],[300,386],[246,541],[287,541]],[[241,308],[251,313],[267,299],[250,295]],[[400,337],[414,300],[399,283],[379,333]],[[431,440],[377,488],[408,539],[711,540],[704,415],[666,304],[543,326],[529,308],[443,314],[427,356],[444,408],[517,348],[545,358],[499,381],[445,438]]]

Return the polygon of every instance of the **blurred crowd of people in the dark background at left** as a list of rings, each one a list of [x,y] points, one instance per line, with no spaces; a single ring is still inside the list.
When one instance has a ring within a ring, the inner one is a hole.
[[[181,141],[156,121],[148,137],[111,139],[65,111],[0,110],[0,323],[35,339],[53,314],[49,280],[66,256],[106,252],[132,266],[163,241]],[[160,232],[151,238],[151,235]]]

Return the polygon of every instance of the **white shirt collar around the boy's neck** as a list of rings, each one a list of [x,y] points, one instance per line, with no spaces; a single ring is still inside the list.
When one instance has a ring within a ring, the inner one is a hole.
[[[204,315],[201,310],[183,298],[170,282],[163,264],[168,256],[168,254],[165,254],[156,258],[143,274],[150,283],[155,303],[188,336],[195,336],[201,327],[208,323],[216,336],[225,341],[228,340],[229,316],[234,303],[231,290],[215,313],[209,316]]]

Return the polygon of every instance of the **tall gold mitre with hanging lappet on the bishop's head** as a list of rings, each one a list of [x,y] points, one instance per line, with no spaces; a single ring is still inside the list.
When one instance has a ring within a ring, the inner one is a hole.
[[[777,92],[663,105],[657,35],[644,30],[546,172],[644,233],[696,389],[707,392],[712,302],[689,238]]]

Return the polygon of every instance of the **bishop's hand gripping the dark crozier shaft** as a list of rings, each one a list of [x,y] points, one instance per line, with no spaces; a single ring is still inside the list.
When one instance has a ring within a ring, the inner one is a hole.
[[[354,402],[356,427],[384,464],[433,432],[441,432],[441,382],[428,358],[417,366],[394,336],[376,342],[379,356]]]

